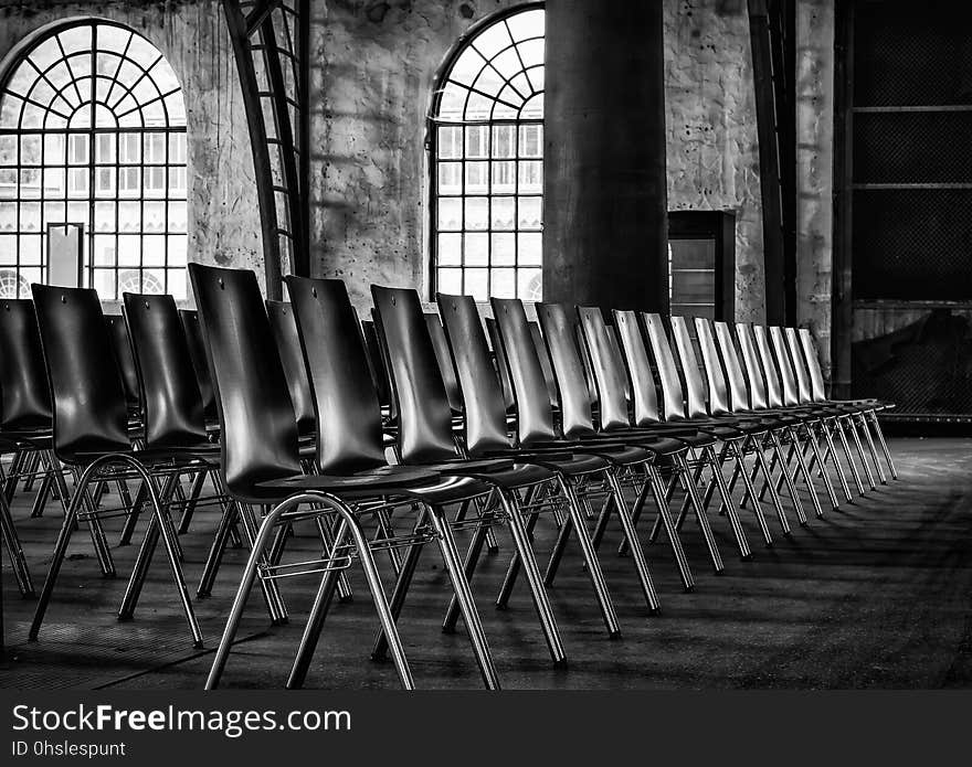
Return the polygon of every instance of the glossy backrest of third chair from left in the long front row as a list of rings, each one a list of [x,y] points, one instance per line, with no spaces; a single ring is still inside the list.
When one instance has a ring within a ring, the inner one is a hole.
[[[398,409],[402,462],[454,459],[452,408],[419,294],[372,285],[371,297]]]

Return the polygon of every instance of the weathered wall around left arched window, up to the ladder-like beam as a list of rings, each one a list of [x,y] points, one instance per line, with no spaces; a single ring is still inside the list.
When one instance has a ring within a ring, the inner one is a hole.
[[[168,58],[186,96],[189,258],[254,268],[263,281],[253,158],[232,46],[219,0],[0,2],[0,58],[54,21],[96,17],[128,24]]]

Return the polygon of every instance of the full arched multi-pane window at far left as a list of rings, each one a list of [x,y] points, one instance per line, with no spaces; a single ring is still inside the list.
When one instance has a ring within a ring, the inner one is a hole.
[[[182,89],[145,38],[65,22],[3,73],[0,296],[44,281],[47,228],[71,223],[84,226],[85,280],[102,298],[183,298],[186,201]]]

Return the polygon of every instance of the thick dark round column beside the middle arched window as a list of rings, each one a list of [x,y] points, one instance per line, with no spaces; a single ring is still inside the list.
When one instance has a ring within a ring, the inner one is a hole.
[[[543,298],[668,308],[662,0],[548,0]]]

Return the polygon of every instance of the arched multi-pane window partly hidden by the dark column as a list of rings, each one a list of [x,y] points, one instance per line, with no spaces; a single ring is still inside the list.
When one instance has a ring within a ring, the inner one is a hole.
[[[430,117],[433,292],[541,297],[543,8],[466,35]]]

